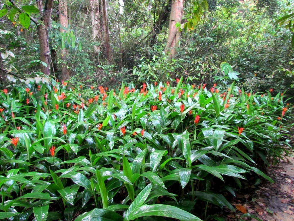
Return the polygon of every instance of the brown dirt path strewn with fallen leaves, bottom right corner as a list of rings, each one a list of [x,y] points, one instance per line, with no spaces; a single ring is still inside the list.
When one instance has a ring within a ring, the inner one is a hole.
[[[223,209],[221,214],[214,215],[223,217],[225,221],[256,221],[252,216],[241,217],[246,213],[262,221],[293,221],[294,154],[281,159],[279,164],[270,166],[267,174],[274,183],[263,180],[259,185],[243,188],[230,202],[236,211]]]

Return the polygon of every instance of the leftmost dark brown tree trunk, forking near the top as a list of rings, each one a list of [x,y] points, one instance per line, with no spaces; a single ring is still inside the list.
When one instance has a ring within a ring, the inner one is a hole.
[[[46,65],[41,63],[41,72],[45,75],[50,75],[50,49],[49,49],[49,37],[48,37],[48,28],[50,27],[51,14],[52,14],[52,5],[53,0],[47,0],[43,9],[43,4],[41,0],[36,0],[38,9],[40,11],[40,23],[37,26],[37,33],[39,36],[40,44],[40,60]]]

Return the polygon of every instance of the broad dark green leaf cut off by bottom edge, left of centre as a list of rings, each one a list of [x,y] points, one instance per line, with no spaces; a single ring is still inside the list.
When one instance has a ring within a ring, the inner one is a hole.
[[[123,221],[123,217],[116,212],[105,209],[93,209],[76,217],[74,221]]]

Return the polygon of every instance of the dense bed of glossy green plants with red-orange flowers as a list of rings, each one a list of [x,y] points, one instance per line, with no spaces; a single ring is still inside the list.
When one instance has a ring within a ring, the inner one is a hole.
[[[0,219],[201,220],[252,174],[273,182],[292,104],[182,80],[2,90]]]

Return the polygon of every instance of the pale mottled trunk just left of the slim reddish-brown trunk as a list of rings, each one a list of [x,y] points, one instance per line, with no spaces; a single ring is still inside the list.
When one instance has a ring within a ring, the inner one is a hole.
[[[100,30],[100,10],[99,10],[99,0],[90,0],[91,5],[91,23],[92,23],[92,33],[93,33],[93,42],[98,42],[99,45],[94,46],[94,51],[99,56],[101,49],[101,39],[102,34]]]

